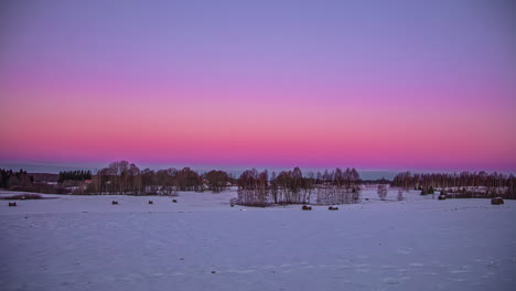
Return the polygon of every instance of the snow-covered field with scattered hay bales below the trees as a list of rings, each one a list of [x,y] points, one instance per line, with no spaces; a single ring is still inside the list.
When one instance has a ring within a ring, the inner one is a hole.
[[[0,290],[515,290],[516,202],[364,194],[337,212],[234,191],[0,201]]]

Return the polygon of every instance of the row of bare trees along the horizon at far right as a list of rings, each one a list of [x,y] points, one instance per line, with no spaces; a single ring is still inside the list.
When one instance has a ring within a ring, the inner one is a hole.
[[[516,198],[516,177],[513,174],[481,172],[423,173],[402,172],[395,176],[393,186],[421,190],[421,194],[431,194],[433,190],[473,195],[503,196]]]

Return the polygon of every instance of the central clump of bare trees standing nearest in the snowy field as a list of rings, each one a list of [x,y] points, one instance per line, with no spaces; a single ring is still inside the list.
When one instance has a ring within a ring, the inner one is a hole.
[[[359,174],[355,169],[337,168],[324,175],[311,172],[303,176],[301,169],[282,171],[278,175],[268,171],[247,170],[237,180],[238,196],[234,203],[250,206],[270,204],[350,204],[359,201]]]

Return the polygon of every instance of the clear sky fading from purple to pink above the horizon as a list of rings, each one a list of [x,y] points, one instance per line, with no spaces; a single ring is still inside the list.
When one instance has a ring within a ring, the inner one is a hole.
[[[0,165],[516,172],[516,6],[1,1]]]

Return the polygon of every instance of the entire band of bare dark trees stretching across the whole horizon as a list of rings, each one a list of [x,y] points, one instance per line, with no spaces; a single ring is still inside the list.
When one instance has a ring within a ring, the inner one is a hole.
[[[55,181],[55,180],[54,180]],[[57,183],[34,182],[26,171],[0,170],[0,187],[49,194],[126,194],[126,195],[176,195],[186,191],[221,192],[229,186],[238,188],[234,204],[267,206],[273,204],[351,204],[361,201],[366,183],[390,184],[401,191],[419,190],[422,195],[453,193],[456,197],[516,198],[516,179],[501,173],[398,173],[393,181],[363,181],[353,168],[334,171],[302,173],[292,171],[272,172],[256,169],[244,171],[238,177],[225,171],[213,170],[198,173],[190,168],[153,171],[140,170],[127,161],[110,163],[107,168],[90,171],[62,171]]]

